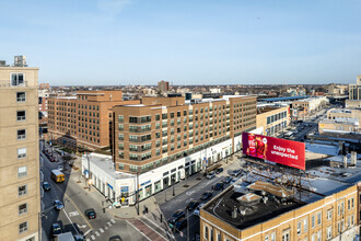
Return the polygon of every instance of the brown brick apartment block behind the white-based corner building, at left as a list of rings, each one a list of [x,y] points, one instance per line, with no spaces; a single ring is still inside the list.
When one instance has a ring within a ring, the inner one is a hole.
[[[138,104],[123,101],[121,91],[79,91],[75,96],[48,97],[48,139],[72,149],[109,146],[112,107]]]

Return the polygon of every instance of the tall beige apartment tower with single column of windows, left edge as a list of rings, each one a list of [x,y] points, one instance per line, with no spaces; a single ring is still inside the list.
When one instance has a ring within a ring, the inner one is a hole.
[[[0,66],[0,240],[38,240],[38,68]]]

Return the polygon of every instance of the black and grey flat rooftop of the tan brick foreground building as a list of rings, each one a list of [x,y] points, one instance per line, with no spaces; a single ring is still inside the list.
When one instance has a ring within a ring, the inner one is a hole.
[[[289,186],[292,186],[292,183],[300,182],[299,175],[293,175],[291,171],[280,172],[281,169],[272,170],[271,164],[248,162],[246,165],[246,159],[242,159],[244,174],[211,199],[203,210],[238,230],[247,229],[354,185],[361,180],[361,156],[358,158],[353,167],[340,168],[340,163],[302,172],[302,188],[294,191],[280,183],[291,183]],[[325,163],[341,162],[341,156],[335,156],[326,159]],[[264,190],[254,188],[255,185]],[[236,216],[233,216],[234,210]]]

